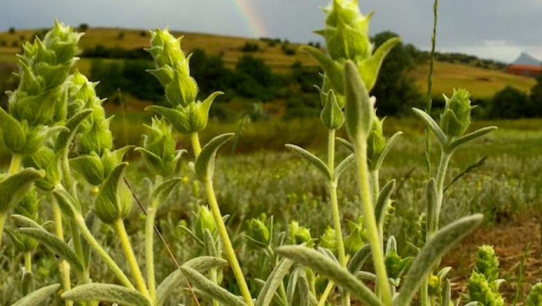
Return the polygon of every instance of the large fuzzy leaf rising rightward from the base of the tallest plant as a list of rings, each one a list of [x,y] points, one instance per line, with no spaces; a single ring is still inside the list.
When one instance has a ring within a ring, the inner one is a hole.
[[[446,225],[427,241],[416,258],[412,261],[407,277],[401,286],[399,295],[394,300],[395,306],[410,305],[416,291],[420,288],[427,274],[434,268],[439,259],[446,254],[456,243],[473,232],[482,223],[484,216],[474,214]]]

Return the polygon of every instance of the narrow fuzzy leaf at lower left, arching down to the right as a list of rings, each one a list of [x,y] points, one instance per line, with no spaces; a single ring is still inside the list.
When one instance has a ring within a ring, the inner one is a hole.
[[[83,264],[81,264],[79,257],[77,257],[75,252],[71,248],[69,248],[67,243],[60,240],[54,234],[34,227],[22,227],[19,228],[19,232],[30,236],[37,241],[40,241],[40,243],[47,246],[47,248],[54,252],[54,254],[65,259],[70,266],[72,266],[79,272],[83,272]]]

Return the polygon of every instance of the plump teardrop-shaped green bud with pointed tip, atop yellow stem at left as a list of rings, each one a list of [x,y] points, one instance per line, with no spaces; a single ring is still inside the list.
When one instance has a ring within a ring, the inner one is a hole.
[[[112,224],[126,217],[132,205],[131,191],[124,184],[124,170],[128,163],[120,163],[101,186],[92,209],[100,220]]]

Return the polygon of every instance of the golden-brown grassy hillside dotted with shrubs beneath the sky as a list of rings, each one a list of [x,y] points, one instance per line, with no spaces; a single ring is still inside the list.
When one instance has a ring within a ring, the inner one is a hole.
[[[21,51],[22,43],[42,29],[16,30],[15,33],[0,32],[0,61],[15,62],[15,54]],[[205,49],[207,54],[221,55],[228,67],[233,67],[240,56],[251,54],[263,58],[265,63],[272,67],[274,72],[289,72],[290,66],[295,61],[301,61],[303,65],[315,66],[316,63],[306,53],[299,51],[301,44],[270,42],[253,38],[240,38],[224,35],[203,33],[184,33],[172,31],[174,35],[184,35],[182,47],[185,51],[196,48]],[[149,47],[149,32],[138,29],[106,29],[90,28],[85,31],[81,38],[82,50],[103,45],[104,47],[120,47],[123,49],[136,49]],[[243,52],[246,43],[258,45],[257,51]],[[290,49],[286,54],[284,49]],[[82,59],[77,67],[83,72],[90,69],[90,60]],[[427,91],[428,64],[422,64],[410,72],[422,92]],[[535,80],[528,77],[506,74],[498,70],[487,70],[469,65],[436,62],[434,69],[434,96],[440,97],[442,93],[450,95],[452,88],[467,88],[473,97],[488,98],[504,86],[514,86],[525,92],[529,92],[534,86]]]

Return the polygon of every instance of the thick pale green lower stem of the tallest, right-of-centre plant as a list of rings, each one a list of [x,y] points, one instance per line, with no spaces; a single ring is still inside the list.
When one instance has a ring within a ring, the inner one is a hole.
[[[384,305],[391,306],[391,289],[388,282],[386,264],[384,264],[384,250],[382,250],[382,241],[377,228],[375,208],[372,204],[372,195],[369,184],[367,143],[366,141],[356,141],[354,142],[354,145],[354,154],[356,156],[356,166],[359,176],[359,191],[361,202],[363,204],[363,216],[367,227],[367,238],[371,246],[372,261],[375,265],[375,272],[377,274],[377,283],[384,300]]]

